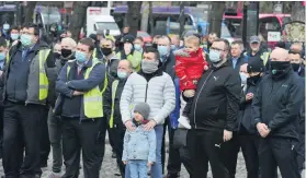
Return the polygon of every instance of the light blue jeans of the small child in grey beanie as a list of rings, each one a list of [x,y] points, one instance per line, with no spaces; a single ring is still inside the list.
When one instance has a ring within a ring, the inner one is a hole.
[[[147,161],[128,161],[131,178],[147,178]]]

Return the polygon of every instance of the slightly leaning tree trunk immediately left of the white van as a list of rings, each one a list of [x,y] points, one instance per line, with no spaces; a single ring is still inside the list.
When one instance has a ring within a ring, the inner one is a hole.
[[[76,1],[73,2],[73,14],[71,15],[71,22],[69,31],[72,34],[75,40],[79,39],[80,31],[83,27],[86,21],[87,8],[90,1]]]

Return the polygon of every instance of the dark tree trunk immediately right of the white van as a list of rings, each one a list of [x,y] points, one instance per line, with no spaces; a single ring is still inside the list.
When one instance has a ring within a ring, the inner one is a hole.
[[[127,2],[127,14],[126,14],[126,22],[129,25],[129,33],[134,36],[137,35],[139,20],[141,17],[140,10],[141,10],[143,1],[128,1]]]

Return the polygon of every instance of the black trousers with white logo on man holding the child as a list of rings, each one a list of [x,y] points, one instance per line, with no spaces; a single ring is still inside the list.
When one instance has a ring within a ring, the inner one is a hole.
[[[188,133],[188,146],[193,165],[193,178],[207,178],[208,162],[213,178],[229,178],[222,150],[223,132],[191,130]]]

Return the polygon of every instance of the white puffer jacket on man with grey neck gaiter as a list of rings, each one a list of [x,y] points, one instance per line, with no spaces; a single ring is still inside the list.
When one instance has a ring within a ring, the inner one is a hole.
[[[175,107],[175,88],[171,76],[161,70],[148,81],[141,71],[131,74],[120,102],[123,122],[132,119],[134,106],[141,102],[150,106],[148,120],[154,119],[157,124],[163,124]]]

